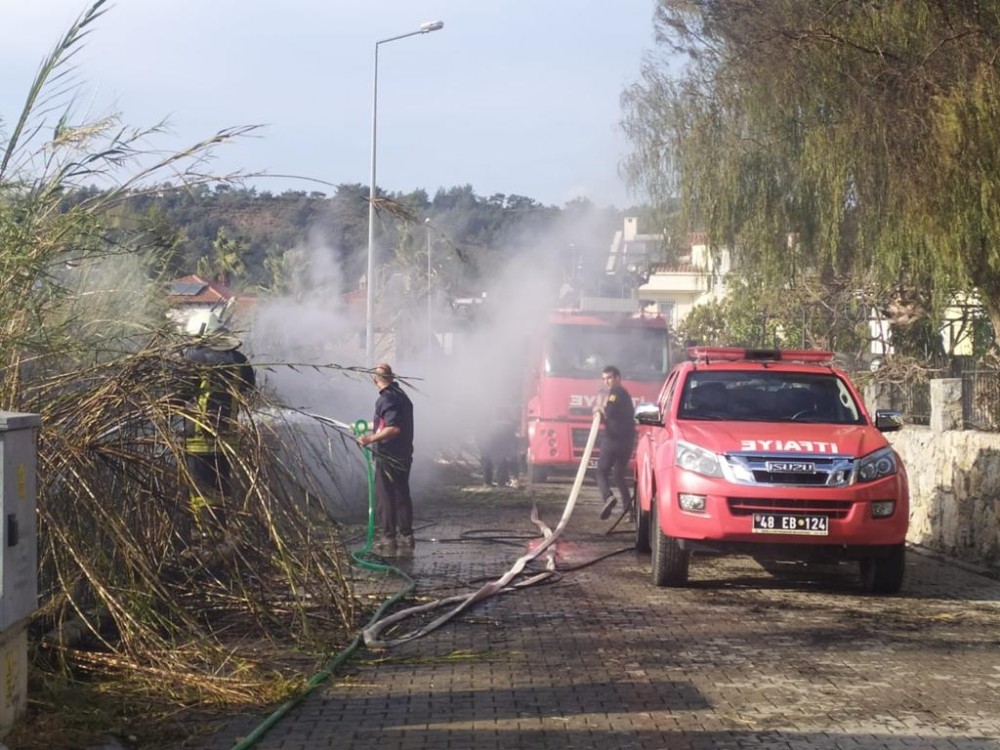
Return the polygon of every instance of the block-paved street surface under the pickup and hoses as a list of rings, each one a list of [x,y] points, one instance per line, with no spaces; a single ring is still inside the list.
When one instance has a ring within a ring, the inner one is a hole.
[[[554,528],[569,489],[466,486],[418,504],[416,551],[397,563],[414,597],[498,578],[538,537],[532,503]],[[598,511],[585,486],[555,582],[356,653],[256,747],[1000,748],[997,580],[911,554],[902,594],[880,598],[854,566],[696,557],[689,588],[657,589],[632,526],[609,534]],[[185,747],[232,747],[266,716]]]

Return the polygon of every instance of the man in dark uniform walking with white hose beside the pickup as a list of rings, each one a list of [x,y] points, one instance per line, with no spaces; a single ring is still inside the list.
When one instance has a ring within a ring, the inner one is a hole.
[[[635,409],[632,396],[622,385],[622,374],[617,367],[605,367],[601,371],[601,380],[608,389],[608,395],[594,411],[600,413],[604,423],[597,458],[597,488],[604,501],[601,519],[605,520],[611,516],[611,510],[618,502],[611,489],[612,479],[621,495],[623,507],[627,509],[631,503],[632,495],[625,481],[625,472],[635,449]]]

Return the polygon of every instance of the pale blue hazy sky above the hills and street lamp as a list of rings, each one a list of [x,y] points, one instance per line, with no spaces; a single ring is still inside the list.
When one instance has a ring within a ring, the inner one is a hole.
[[[0,128],[85,0],[0,0]],[[167,120],[164,149],[231,126],[215,172],[266,172],[258,190],[369,184],[378,47],[376,182],[471,185],[562,206],[642,202],[618,166],[619,96],[652,47],[655,0],[118,0],[74,58],[77,108]],[[278,177],[291,175],[294,178]],[[328,183],[328,184],[324,184]]]

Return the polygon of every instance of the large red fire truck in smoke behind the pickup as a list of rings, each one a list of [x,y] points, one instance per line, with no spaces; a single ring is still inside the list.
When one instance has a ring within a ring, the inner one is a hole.
[[[579,308],[553,313],[536,344],[523,419],[529,482],[576,472],[594,406],[603,397],[601,370],[607,365],[621,370],[636,404],[656,401],[670,366],[666,319],[623,312],[621,303],[630,301],[615,302],[585,298]],[[596,465],[595,450],[589,468]]]

